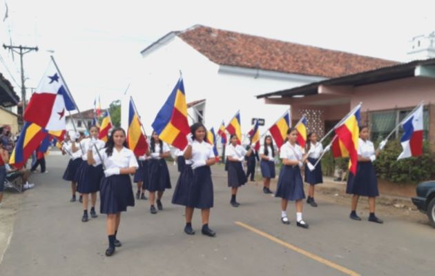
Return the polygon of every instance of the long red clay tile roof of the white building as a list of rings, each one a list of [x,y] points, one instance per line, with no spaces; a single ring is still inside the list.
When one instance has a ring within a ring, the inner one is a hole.
[[[398,64],[206,26],[194,26],[176,34],[211,61],[226,66],[330,78]]]

